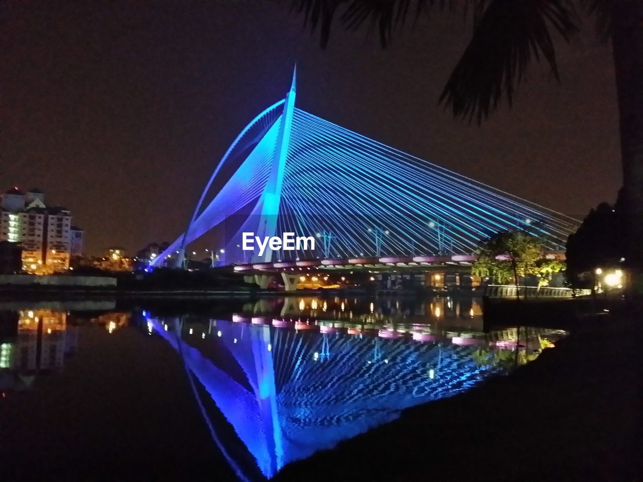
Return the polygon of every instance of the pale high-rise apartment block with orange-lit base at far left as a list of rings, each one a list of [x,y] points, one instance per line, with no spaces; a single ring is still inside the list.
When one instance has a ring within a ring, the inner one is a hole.
[[[69,258],[82,253],[82,238],[82,229],[71,226],[71,212],[47,206],[42,191],[14,188],[0,194],[0,240],[22,245],[24,271],[69,269]]]

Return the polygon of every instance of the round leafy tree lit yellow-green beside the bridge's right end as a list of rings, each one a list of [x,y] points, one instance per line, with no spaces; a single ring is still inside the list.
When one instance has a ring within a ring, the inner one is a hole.
[[[518,287],[520,278],[539,272],[538,261],[542,250],[541,241],[525,231],[499,231],[480,242],[478,259],[471,271],[478,276],[487,272],[496,280],[513,278]],[[518,289],[516,298],[520,299]]]

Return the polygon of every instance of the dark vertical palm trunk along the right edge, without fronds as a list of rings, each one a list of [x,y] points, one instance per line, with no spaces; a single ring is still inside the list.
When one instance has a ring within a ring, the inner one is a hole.
[[[612,48],[628,224],[629,283],[643,293],[643,0],[613,0]]]

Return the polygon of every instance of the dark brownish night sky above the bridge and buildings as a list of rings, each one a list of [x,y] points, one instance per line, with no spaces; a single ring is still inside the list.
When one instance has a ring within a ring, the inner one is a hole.
[[[174,240],[295,61],[298,107],[548,208],[582,218],[621,183],[611,51],[591,32],[559,45],[561,84],[535,67],[478,127],[437,104],[468,40],[459,14],[386,50],[336,26],[321,51],[276,0],[3,4],[0,188],[70,208],[89,253]]]

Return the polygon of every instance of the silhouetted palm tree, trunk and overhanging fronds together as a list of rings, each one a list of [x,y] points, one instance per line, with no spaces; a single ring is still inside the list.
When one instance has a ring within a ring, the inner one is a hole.
[[[576,5],[597,20],[597,34],[611,40],[619,127],[629,268],[643,273],[643,1],[641,0],[294,0],[294,8],[321,46],[339,21],[348,30],[365,22],[383,46],[394,28],[429,8],[462,8],[473,17],[471,41],[440,96],[453,115],[480,123],[502,98],[511,106],[532,59],[544,58],[558,79],[552,31],[570,42],[579,31]],[[588,75],[592,66],[588,65]]]

